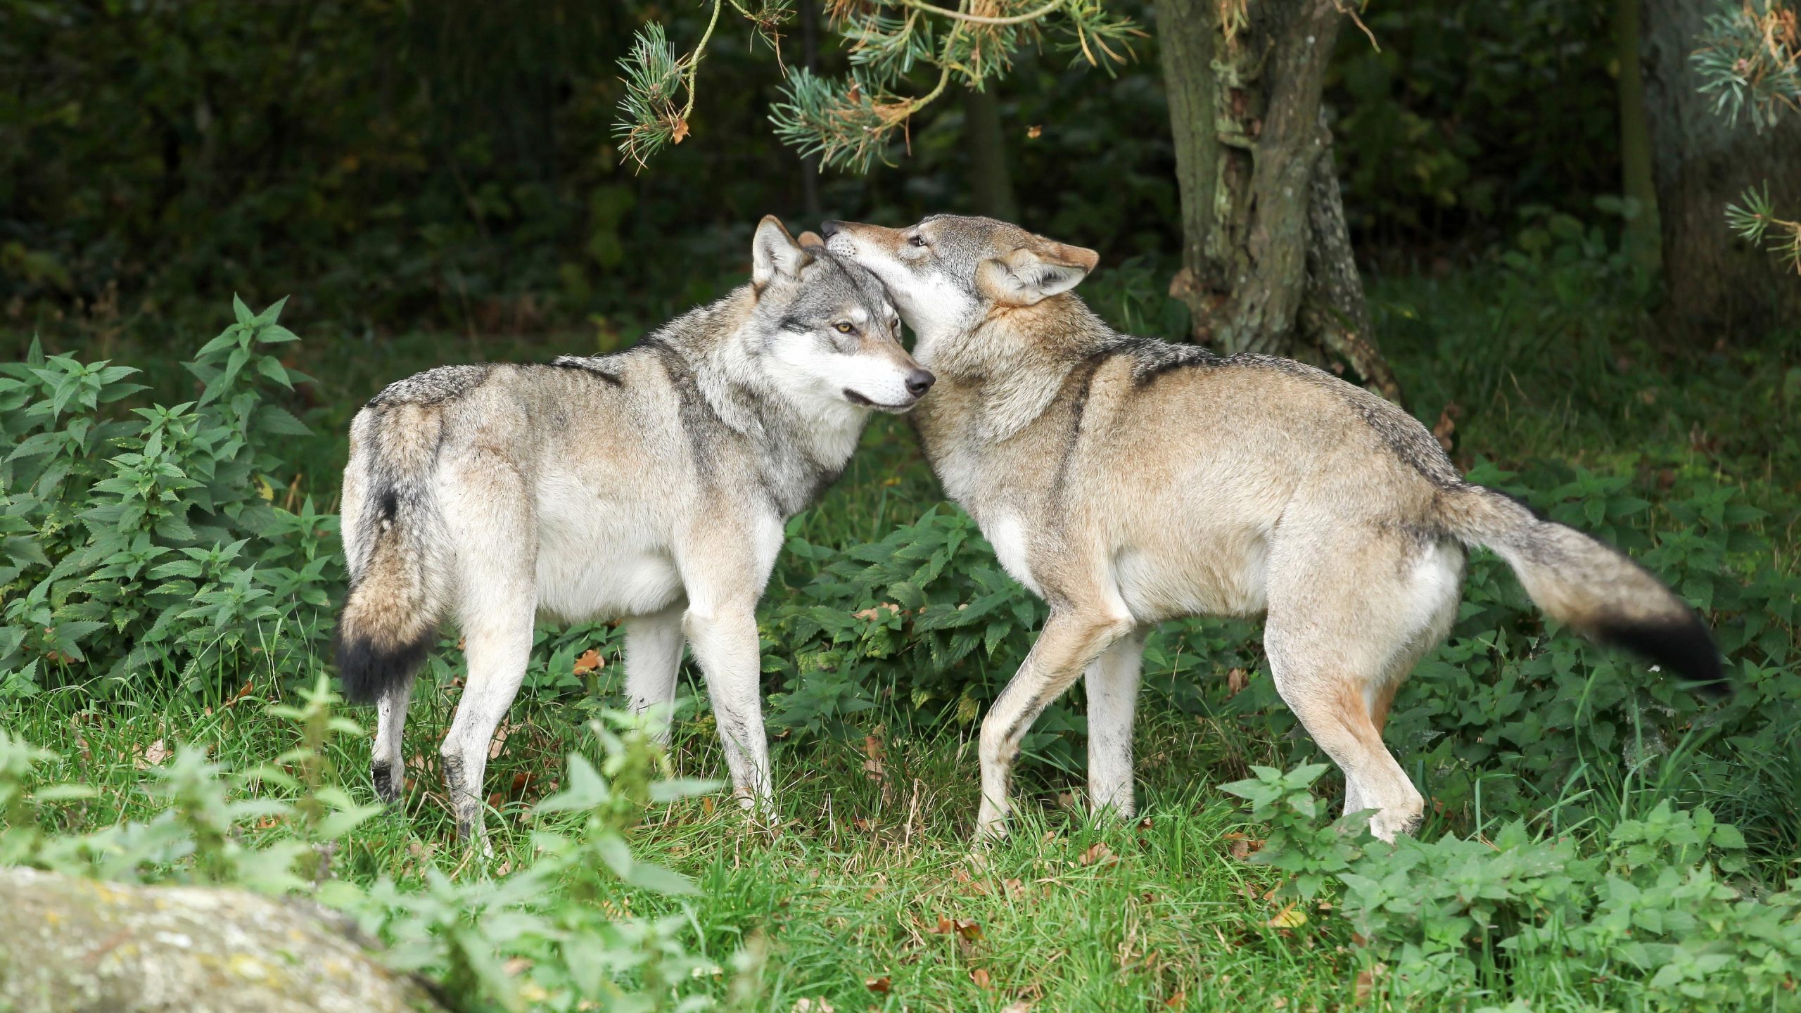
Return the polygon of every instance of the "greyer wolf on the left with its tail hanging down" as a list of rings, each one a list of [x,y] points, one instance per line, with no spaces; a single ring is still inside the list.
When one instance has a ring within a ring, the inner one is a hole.
[[[632,707],[666,712],[686,638],[733,791],[771,811],[755,609],[783,521],[872,413],[910,409],[933,375],[875,278],[812,233],[764,218],[751,265],[749,285],[616,355],[445,366],[357,413],[335,640],[346,698],[378,708],[382,799],[400,795],[407,701],[445,620],[468,653],[445,782],[457,833],[484,844],[488,746],[535,618],[621,618]]]

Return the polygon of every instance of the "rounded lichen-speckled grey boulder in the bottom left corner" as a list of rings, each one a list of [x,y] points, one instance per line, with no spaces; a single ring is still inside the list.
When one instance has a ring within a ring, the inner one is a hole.
[[[34,869],[0,869],[0,1009],[13,1013],[443,1009],[313,905]]]

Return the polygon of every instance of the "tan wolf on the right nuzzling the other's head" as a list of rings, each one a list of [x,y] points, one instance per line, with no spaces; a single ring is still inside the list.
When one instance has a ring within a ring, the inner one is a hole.
[[[1585,634],[1724,694],[1700,618],[1619,552],[1471,485],[1426,429],[1331,373],[1122,335],[1072,288],[1099,256],[989,218],[827,222],[938,386],[911,415],[946,492],[1050,616],[982,723],[978,833],[1003,831],[1037,714],[1088,689],[1088,795],[1133,813],[1144,638],[1263,613],[1275,687],[1392,840],[1425,800],[1383,746],[1396,689],[1450,631],[1466,546]]]

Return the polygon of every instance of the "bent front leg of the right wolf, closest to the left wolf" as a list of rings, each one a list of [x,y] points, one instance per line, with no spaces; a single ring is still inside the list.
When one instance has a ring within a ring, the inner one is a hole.
[[[978,836],[1007,833],[1005,820],[1012,808],[1007,799],[1007,782],[1012,775],[1012,764],[1019,757],[1019,741],[1032,728],[1032,721],[1075,683],[1090,662],[1131,631],[1131,618],[1109,615],[1099,607],[1052,607],[1043,633],[1032,643],[1032,653],[1027,654],[1007,689],[994,698],[989,716],[982,719]]]

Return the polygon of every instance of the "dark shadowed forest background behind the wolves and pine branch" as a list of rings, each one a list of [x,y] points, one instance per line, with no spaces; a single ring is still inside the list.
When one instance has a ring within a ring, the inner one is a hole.
[[[1147,23],[1149,4],[1120,7]],[[611,128],[618,58],[688,4],[474,0],[0,4],[0,321],[155,342],[231,292],[292,294],[321,341],[393,332],[594,330],[611,346],[747,269],[776,213],[908,222],[994,209],[1144,267],[1151,315],[1180,245],[1154,31],[1108,76],[1027,52],[985,105],[951,96],[866,177],[776,142],[776,58],[738,23],[708,54],[692,137],[647,169]],[[1617,61],[1606,5],[1383,2],[1380,52],[1345,31],[1327,105],[1347,218],[1378,274],[1495,256],[1551,213],[1619,224]],[[780,41],[843,70],[836,36]],[[810,52],[809,52],[810,50]],[[974,117],[971,114],[976,114]],[[987,177],[983,177],[987,178]],[[992,180],[989,180],[992,182]],[[1001,209],[1009,209],[1001,204]],[[1167,305],[1165,305],[1167,303]],[[74,317],[83,328],[50,326]],[[1169,321],[1180,333],[1180,319]],[[623,333],[623,337],[621,337]]]

